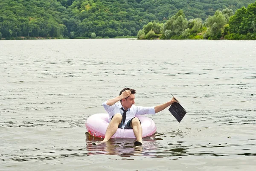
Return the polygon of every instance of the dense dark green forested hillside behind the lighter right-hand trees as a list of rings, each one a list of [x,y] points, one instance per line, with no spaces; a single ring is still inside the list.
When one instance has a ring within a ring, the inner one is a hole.
[[[206,20],[217,9],[255,0],[1,0],[0,38],[136,36],[151,21],[165,23],[183,9]]]

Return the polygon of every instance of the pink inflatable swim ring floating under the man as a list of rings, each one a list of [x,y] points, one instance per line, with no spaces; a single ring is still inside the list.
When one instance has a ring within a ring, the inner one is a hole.
[[[136,116],[141,121],[142,137],[151,136],[157,130],[154,121],[146,116]],[[86,129],[92,136],[104,138],[108,128],[108,113],[96,113],[86,121]],[[136,138],[132,129],[118,128],[111,138]]]

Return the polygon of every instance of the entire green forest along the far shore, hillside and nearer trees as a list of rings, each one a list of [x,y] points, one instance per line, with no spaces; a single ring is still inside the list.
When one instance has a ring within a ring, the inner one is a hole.
[[[1,0],[0,39],[255,39],[255,0]]]

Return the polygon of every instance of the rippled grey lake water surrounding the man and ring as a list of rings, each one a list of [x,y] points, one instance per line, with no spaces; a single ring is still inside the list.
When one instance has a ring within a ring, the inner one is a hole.
[[[107,145],[85,122],[123,87],[136,105],[173,94],[186,109],[147,115],[157,133]],[[1,171],[254,171],[256,41],[0,41]]]

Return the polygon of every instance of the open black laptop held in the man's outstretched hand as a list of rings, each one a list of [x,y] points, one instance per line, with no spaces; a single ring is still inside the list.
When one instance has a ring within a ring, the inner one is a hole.
[[[172,95],[172,94],[171,94]],[[186,115],[186,110],[181,106],[180,102],[172,96],[177,102],[174,102],[170,108],[169,111],[172,113],[172,115],[177,119],[178,122],[180,122],[183,117]]]

